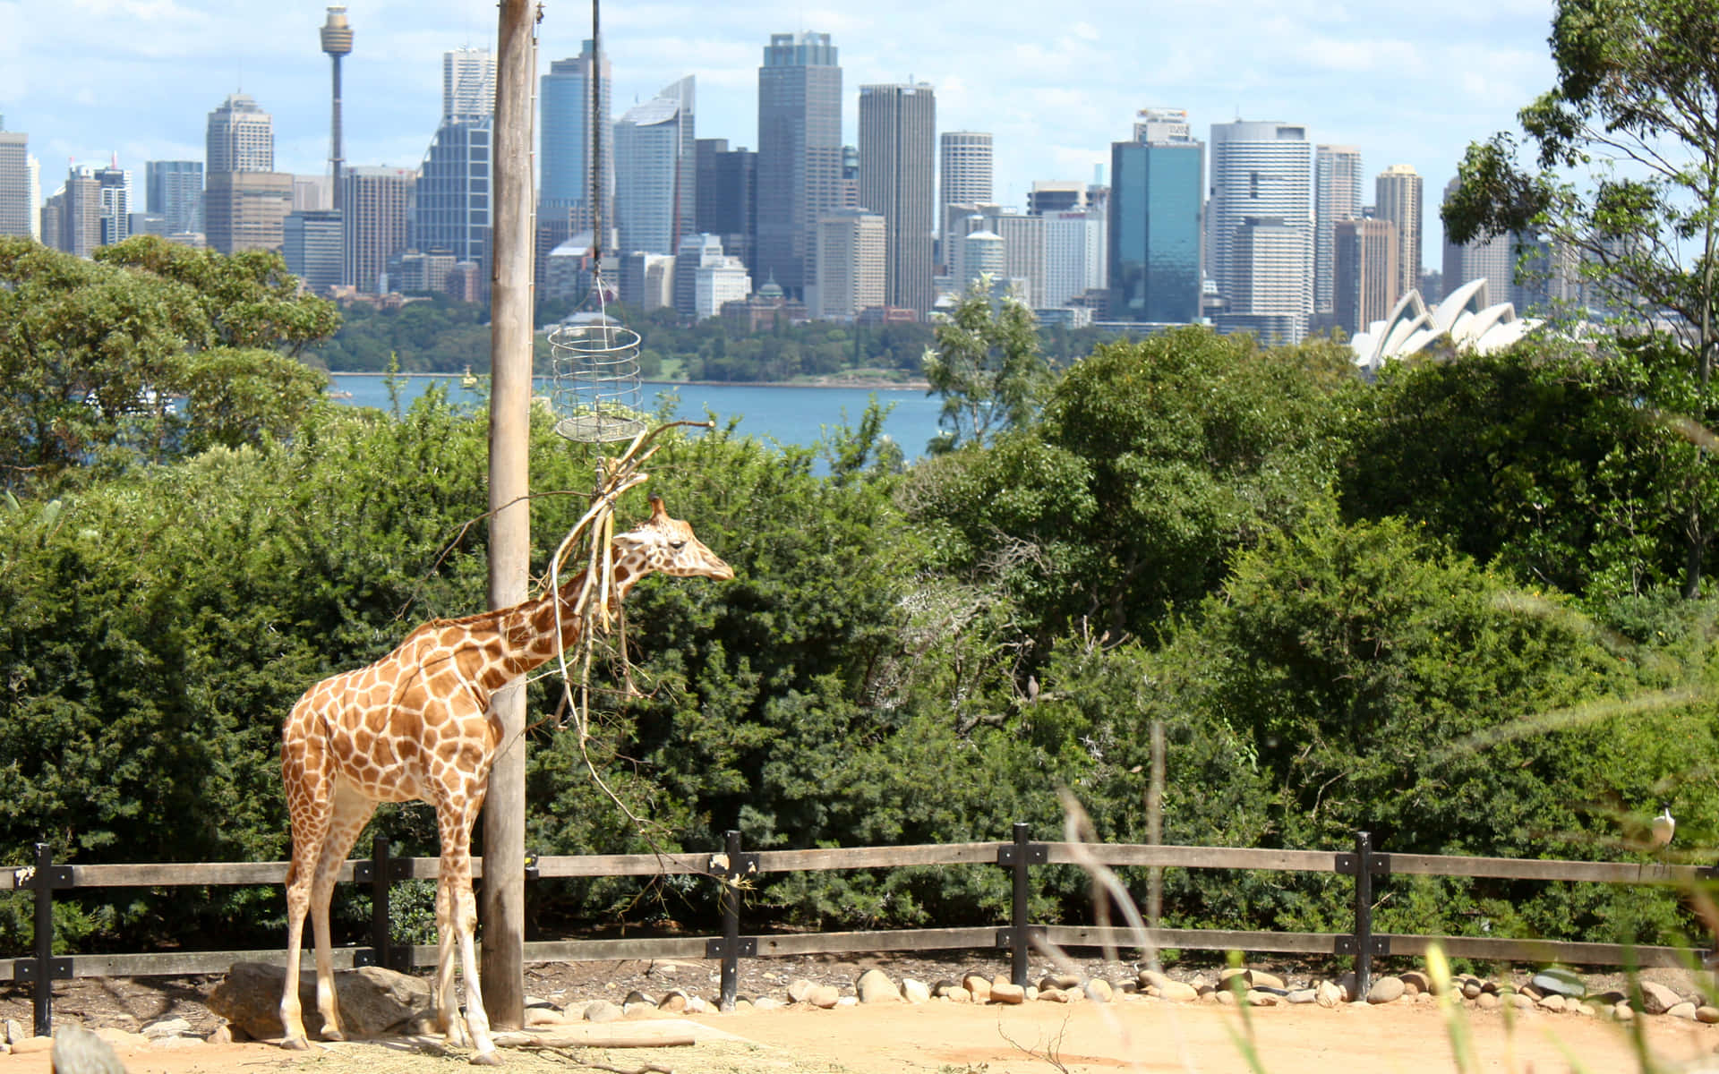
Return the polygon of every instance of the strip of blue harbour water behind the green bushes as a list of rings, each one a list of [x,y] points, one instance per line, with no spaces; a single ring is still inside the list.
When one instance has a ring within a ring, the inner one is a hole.
[[[423,395],[425,388],[437,383],[447,388],[449,399],[459,402],[478,402],[474,392],[459,385],[457,376],[402,376],[401,407]],[[388,406],[388,390],[382,376],[335,375],[330,378],[330,392],[351,392],[351,402],[363,407]],[[548,385],[538,381],[538,392],[547,394]],[[708,407],[717,414],[719,424],[727,424],[739,418],[736,430],[741,436],[770,438],[780,443],[798,443],[811,447],[823,435],[825,428],[856,426],[865,414],[866,404],[875,395],[884,406],[892,406],[884,421],[884,435],[901,445],[908,459],[925,455],[927,442],[937,435],[937,411],[942,399],[928,395],[923,388],[780,388],[760,385],[645,385],[645,409],[655,411],[658,395],[676,394],[676,418],[703,421]]]

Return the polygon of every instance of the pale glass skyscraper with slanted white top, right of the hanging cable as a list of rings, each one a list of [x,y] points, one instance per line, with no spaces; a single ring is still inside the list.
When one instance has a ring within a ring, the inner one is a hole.
[[[681,143],[676,98],[634,105],[615,120],[615,230],[622,254],[679,249]]]

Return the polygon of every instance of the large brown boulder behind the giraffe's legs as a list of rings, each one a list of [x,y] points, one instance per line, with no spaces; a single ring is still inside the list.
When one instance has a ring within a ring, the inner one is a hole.
[[[236,962],[227,979],[210,992],[208,1009],[254,1038],[284,1036],[280,993],[285,981],[284,966]],[[347,1036],[380,1036],[430,1010],[428,981],[380,966],[337,969],[333,990]],[[311,1036],[321,1033],[315,973],[299,974],[299,1005],[304,1009],[304,1031]]]

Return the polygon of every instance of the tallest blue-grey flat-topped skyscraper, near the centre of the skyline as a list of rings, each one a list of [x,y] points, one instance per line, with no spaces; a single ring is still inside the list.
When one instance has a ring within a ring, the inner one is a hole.
[[[791,297],[817,278],[817,223],[842,206],[842,189],[837,48],[825,33],[770,34],[758,67],[758,272]]]

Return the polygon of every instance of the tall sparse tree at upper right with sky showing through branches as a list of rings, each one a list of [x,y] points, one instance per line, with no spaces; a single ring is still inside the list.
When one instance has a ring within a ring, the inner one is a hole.
[[[1559,0],[1557,82],[1518,113],[1530,167],[1497,134],[1468,148],[1442,210],[1453,241],[1540,232],[1575,251],[1612,302],[1643,323],[1669,311],[1698,385],[1686,416],[1710,424],[1719,323],[1719,12],[1688,0]],[[1590,184],[1568,179],[1585,168]],[[1657,400],[1655,400],[1657,402]],[[1683,593],[1700,591],[1716,526],[1685,507]]]

